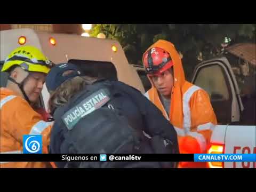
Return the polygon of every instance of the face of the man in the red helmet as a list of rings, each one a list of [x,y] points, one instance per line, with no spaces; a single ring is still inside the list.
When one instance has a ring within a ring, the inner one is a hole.
[[[159,75],[151,76],[153,83],[157,91],[163,95],[166,99],[171,98],[172,87],[173,87],[173,75],[169,70],[164,71]]]

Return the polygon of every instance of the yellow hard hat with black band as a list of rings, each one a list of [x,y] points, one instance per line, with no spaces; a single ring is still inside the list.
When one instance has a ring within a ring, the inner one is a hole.
[[[27,71],[47,74],[53,63],[36,47],[26,45],[18,47],[8,55],[2,71],[8,71],[15,65],[18,65]]]

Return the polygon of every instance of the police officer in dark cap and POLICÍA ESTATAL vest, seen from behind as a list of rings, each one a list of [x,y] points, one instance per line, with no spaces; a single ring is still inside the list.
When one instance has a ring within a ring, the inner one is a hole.
[[[90,74],[89,74],[90,75]],[[62,63],[46,77],[51,154],[179,153],[177,133],[133,87]],[[147,135],[147,136],[146,136]],[[177,167],[177,162],[54,162],[57,167]]]

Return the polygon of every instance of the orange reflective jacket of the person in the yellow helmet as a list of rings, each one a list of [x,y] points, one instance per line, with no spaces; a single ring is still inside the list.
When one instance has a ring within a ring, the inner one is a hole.
[[[42,116],[29,103],[13,91],[1,87],[1,134],[0,153],[22,153],[22,139],[25,134],[42,134],[43,153],[47,153],[52,125],[42,120]],[[47,162],[0,162],[0,167],[51,167]]]

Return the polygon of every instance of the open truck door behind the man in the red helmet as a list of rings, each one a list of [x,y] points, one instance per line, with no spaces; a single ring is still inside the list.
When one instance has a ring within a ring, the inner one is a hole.
[[[192,83],[209,94],[218,123],[240,120],[244,108],[235,75],[226,58],[200,63],[194,70]]]

